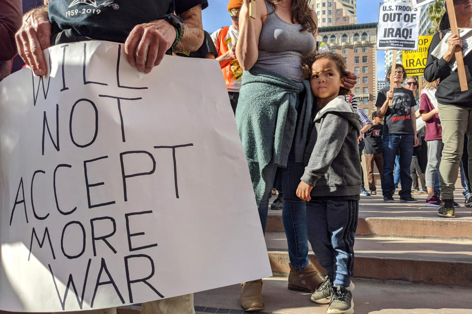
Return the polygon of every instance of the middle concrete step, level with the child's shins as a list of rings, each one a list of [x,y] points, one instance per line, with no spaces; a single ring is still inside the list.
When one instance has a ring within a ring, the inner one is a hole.
[[[266,232],[266,246],[274,274],[287,275],[290,261],[285,233]],[[354,252],[357,278],[472,287],[472,241],[356,236]],[[311,247],[309,259],[325,274]]]

